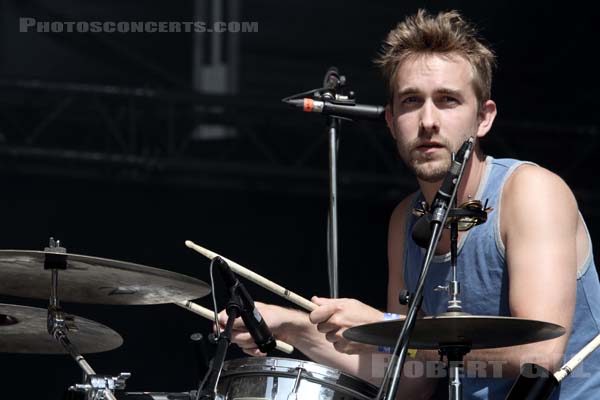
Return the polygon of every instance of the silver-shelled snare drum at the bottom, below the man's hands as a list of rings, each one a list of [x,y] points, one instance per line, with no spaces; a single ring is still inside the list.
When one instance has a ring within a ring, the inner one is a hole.
[[[218,393],[224,400],[371,400],[377,388],[324,365],[267,357],[225,362]]]

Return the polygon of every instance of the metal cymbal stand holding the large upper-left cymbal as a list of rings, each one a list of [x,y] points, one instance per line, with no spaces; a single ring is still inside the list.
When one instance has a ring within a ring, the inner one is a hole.
[[[119,376],[98,375],[83,358],[77,346],[69,339],[69,331],[77,331],[73,316],[66,314],[60,307],[58,296],[58,273],[67,269],[67,251],[60,247],[60,241],[50,238],[50,245],[44,249],[44,269],[52,272],[50,301],[48,305],[48,333],[60,343],[83,371],[83,384],[69,387],[70,391],[85,393],[86,400],[117,400],[115,390],[125,389],[125,381],[131,376],[122,372]]]

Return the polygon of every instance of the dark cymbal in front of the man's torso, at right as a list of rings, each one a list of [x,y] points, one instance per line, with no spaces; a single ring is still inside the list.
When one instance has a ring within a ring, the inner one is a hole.
[[[355,342],[393,347],[403,325],[404,320],[391,320],[355,326],[344,331],[344,337]],[[417,319],[409,346],[431,350],[452,345],[486,349],[540,342],[564,333],[562,326],[549,322],[446,313]]]

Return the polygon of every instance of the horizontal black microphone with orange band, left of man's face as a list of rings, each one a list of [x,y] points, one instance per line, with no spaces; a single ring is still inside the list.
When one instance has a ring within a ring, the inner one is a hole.
[[[338,104],[309,98],[284,100],[284,103],[302,108],[304,112],[318,112],[332,117],[384,120],[385,116],[385,107],[367,104]]]

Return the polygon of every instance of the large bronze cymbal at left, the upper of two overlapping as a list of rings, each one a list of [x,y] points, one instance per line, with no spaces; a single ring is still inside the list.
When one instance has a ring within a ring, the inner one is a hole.
[[[0,294],[48,299],[51,271],[43,251],[0,250]],[[60,301],[89,304],[161,304],[206,296],[209,286],[176,272],[130,262],[65,254],[58,273]]]

